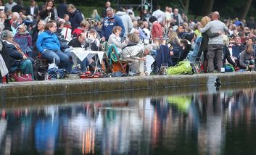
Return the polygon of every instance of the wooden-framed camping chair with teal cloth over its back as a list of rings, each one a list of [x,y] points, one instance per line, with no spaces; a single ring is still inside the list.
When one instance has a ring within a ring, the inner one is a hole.
[[[109,49],[107,51],[107,57],[110,60],[110,65],[112,65],[112,72],[123,72],[127,73],[125,70],[125,67],[128,65],[128,61],[121,59],[120,54],[117,51],[117,48],[115,45],[110,45]]]

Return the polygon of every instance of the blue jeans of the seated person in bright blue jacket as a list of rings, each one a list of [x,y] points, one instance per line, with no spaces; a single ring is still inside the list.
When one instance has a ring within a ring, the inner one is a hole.
[[[72,71],[72,61],[70,61],[70,57],[62,51],[51,51],[46,49],[46,51],[42,52],[42,56],[50,63],[53,63],[55,59],[55,64],[57,64],[59,68],[65,68],[67,73]]]

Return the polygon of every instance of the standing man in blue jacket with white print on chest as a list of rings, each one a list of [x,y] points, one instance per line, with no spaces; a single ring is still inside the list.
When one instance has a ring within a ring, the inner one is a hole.
[[[107,17],[105,17],[102,22],[102,41],[109,40],[114,26],[120,26],[122,28],[120,37],[123,37],[125,34],[125,27],[123,26],[123,21],[121,18],[114,14],[114,10],[111,7],[107,8],[106,12]]]

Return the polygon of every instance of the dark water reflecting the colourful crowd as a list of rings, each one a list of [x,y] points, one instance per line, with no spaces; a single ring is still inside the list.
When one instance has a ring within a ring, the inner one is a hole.
[[[255,90],[2,101],[0,154],[256,154]]]

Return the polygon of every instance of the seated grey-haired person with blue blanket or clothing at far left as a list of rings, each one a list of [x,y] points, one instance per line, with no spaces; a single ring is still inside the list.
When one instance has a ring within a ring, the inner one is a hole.
[[[29,34],[26,25],[22,24],[17,28],[17,33],[15,34],[14,40],[19,44],[20,49],[24,54],[32,57],[32,37]]]

